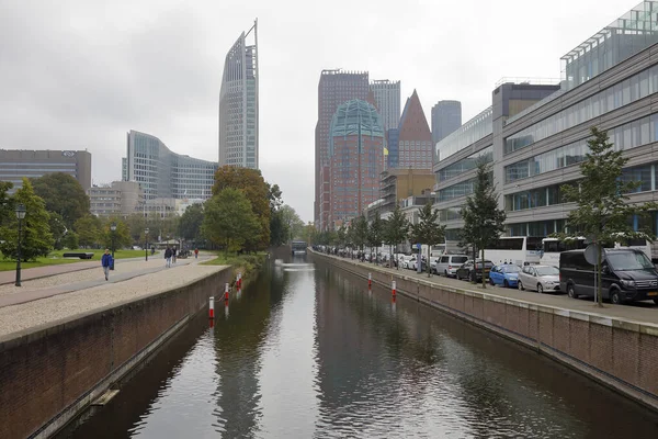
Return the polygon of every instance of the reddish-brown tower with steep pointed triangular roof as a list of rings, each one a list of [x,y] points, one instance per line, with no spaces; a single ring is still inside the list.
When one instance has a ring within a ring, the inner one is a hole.
[[[398,150],[397,157],[394,159],[398,164],[397,167],[432,169],[434,164],[432,132],[416,90],[407,99],[398,131]],[[390,153],[388,157],[390,162]]]

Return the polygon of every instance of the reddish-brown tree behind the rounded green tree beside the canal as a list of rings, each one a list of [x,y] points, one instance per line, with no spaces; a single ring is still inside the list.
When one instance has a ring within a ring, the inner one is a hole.
[[[266,248],[270,245],[270,201],[273,196],[276,198],[276,194],[272,191],[273,188],[269,187],[258,169],[223,166],[215,172],[213,195],[218,194],[226,188],[239,189],[243,192],[251,203],[257,221],[260,223],[259,233],[248,237],[245,246],[250,249]]]

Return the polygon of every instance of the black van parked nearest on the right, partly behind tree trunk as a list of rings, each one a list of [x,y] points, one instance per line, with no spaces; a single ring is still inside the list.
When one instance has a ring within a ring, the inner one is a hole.
[[[642,250],[605,249],[601,277],[603,299],[614,304],[651,299],[658,304],[658,271]],[[594,267],[585,259],[585,250],[559,255],[559,288],[574,299],[594,295]]]

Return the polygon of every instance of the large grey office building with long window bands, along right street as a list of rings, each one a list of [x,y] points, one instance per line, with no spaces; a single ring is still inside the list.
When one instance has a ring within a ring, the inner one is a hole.
[[[435,189],[449,239],[463,224],[477,158],[492,164],[508,235],[561,232],[575,204],[564,202],[560,185],[580,178],[592,126],[608,131],[629,159],[624,179],[640,182],[631,202],[658,199],[657,14],[658,2],[644,1],[567,53],[560,87],[501,83],[491,108],[436,145]],[[654,215],[654,230],[657,222]]]

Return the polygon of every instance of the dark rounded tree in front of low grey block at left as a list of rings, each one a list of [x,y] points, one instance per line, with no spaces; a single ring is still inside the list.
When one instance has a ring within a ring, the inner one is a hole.
[[[46,210],[61,215],[68,228],[89,214],[89,196],[78,180],[68,173],[47,173],[34,179],[32,184],[34,192],[45,200]]]

